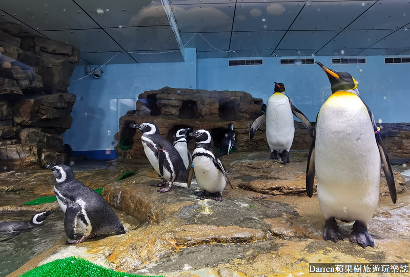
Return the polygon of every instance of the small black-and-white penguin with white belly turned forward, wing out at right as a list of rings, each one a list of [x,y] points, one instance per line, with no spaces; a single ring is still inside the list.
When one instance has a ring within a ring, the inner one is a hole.
[[[196,182],[202,190],[197,199],[207,199],[206,192],[218,193],[213,198],[222,201],[222,191],[227,184],[232,187],[228,180],[227,172],[223,168],[221,160],[217,157],[211,147],[211,134],[207,130],[199,129],[189,134],[195,139],[195,149],[192,153],[192,165],[195,170]]]

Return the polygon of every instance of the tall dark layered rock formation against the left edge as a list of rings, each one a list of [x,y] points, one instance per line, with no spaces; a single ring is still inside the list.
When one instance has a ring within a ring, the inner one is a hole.
[[[64,163],[79,50],[0,23],[0,171]]]

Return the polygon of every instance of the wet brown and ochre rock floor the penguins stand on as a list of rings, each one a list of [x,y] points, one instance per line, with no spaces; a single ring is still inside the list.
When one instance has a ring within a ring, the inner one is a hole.
[[[222,202],[211,197],[197,200],[200,190],[195,179],[190,188],[180,183],[169,192],[157,192],[158,187],[151,185],[160,179],[149,164],[74,166],[79,181],[92,188],[104,187],[103,196],[127,233],[67,245],[62,232],[54,246],[9,276],[71,255],[120,271],[164,276],[309,276],[309,263],[408,263],[407,168],[394,167],[396,204],[384,195],[387,186],[381,184],[379,205],[368,225],[375,247],[364,249],[348,242],[353,223],[338,221],[345,241],[323,241],[324,218],[317,196],[310,199],[303,192],[306,155],[291,151],[291,163],[285,166],[267,160],[269,151],[222,156],[234,186],[222,192]],[[131,170],[136,172],[116,182]],[[23,209],[24,202],[52,195],[53,184],[54,176],[47,169],[0,173],[0,209]],[[52,205],[58,204],[30,209]]]

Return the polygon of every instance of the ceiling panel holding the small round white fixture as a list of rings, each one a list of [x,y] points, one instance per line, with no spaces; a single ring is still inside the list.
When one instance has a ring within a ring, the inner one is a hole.
[[[159,0],[76,0],[100,27],[169,26]],[[97,14],[97,9],[104,14]]]

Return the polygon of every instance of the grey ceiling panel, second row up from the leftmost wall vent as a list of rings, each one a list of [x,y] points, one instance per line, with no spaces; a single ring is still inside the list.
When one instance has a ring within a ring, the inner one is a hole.
[[[280,39],[283,37],[284,33],[284,31],[233,32],[231,49],[273,50],[280,42]]]

